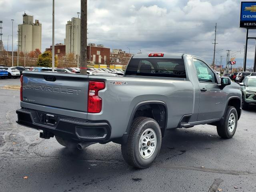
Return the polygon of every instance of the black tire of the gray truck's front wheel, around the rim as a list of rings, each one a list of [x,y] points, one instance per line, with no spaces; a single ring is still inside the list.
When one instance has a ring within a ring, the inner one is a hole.
[[[235,119],[234,128],[232,129],[232,131],[229,130],[229,126],[228,126],[229,119],[231,118],[231,114],[234,115],[234,119]],[[238,122],[238,116],[237,116],[236,108],[234,108],[233,106],[228,106],[224,114],[223,123],[219,123],[217,125],[218,135],[224,139],[232,138],[236,132],[237,122]]]

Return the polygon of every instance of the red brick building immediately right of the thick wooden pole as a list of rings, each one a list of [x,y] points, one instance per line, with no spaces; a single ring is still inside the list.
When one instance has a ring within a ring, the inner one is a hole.
[[[89,44],[87,46],[87,59],[93,64],[110,64],[110,48],[99,44]]]

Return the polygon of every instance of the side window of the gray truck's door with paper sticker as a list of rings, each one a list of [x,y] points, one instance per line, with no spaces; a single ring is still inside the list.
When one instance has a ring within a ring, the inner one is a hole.
[[[217,83],[214,72],[204,62],[193,59],[199,82]]]

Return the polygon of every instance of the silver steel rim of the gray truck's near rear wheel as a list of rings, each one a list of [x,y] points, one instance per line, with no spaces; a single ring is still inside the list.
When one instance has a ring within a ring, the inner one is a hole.
[[[140,136],[139,152],[140,156],[144,159],[148,159],[154,154],[156,150],[156,132],[148,128]]]

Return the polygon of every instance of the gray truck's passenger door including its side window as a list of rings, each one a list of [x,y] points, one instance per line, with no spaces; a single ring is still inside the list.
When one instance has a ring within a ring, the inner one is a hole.
[[[200,100],[198,121],[221,118],[225,109],[225,92],[220,89],[212,69],[202,60],[193,58],[198,77]]]

